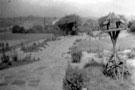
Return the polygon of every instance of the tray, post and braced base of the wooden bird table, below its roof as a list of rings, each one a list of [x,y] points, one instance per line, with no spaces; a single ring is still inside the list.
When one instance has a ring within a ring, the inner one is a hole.
[[[125,28],[108,29],[104,31],[109,34],[113,44],[113,53],[105,66],[104,74],[117,80],[123,80],[125,73],[125,62],[119,58],[116,50],[117,39],[122,30],[125,30]]]

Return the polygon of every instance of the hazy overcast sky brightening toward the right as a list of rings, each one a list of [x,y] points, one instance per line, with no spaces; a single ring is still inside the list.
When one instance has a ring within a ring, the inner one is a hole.
[[[109,12],[135,15],[135,0],[0,0],[1,16],[100,17]]]

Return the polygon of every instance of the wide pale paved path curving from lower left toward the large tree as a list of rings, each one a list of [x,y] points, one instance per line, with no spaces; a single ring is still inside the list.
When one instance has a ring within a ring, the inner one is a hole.
[[[51,41],[46,49],[32,54],[41,61],[1,71],[0,90],[62,90],[67,61],[61,55],[79,38],[85,37],[62,37]]]

